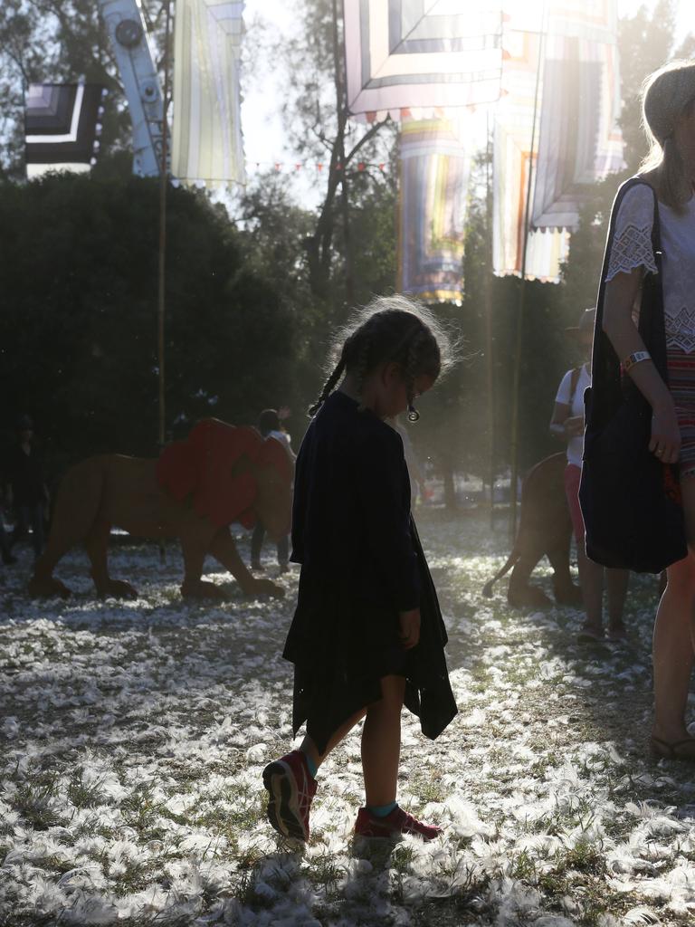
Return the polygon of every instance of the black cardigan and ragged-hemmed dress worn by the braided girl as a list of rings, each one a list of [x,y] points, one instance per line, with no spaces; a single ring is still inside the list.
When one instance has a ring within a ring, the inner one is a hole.
[[[323,753],[331,735],[381,698],[380,679],[406,677],[405,704],[434,740],[457,708],[447,632],[411,518],[400,436],[335,392],[297,457],[292,560],[302,565],[284,646],[295,664],[293,728]],[[398,612],[420,607],[420,643],[398,641]]]

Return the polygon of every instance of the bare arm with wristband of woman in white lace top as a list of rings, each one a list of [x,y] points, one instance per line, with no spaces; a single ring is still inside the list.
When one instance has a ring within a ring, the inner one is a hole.
[[[621,362],[635,351],[645,350],[632,318],[632,309],[642,281],[642,268],[630,273],[616,273],[606,284],[603,302],[603,331],[608,336]],[[659,459],[664,464],[676,464],[680,451],[680,430],[676,408],[668,387],[651,361],[636,363],[629,371],[640,393],[652,410],[650,451],[663,449]]]

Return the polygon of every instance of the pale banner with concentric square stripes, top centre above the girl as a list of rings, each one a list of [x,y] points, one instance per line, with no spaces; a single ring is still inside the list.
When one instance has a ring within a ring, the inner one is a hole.
[[[467,0],[465,12],[461,0],[346,0],[347,108],[373,121],[490,103],[500,33],[499,5],[484,0]]]

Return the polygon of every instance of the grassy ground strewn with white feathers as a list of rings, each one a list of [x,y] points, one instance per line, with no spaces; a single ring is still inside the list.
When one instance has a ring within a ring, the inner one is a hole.
[[[24,596],[28,560],[3,572],[0,922],[692,923],[692,771],[647,753],[655,579],[633,579],[624,645],[580,645],[573,609],[513,611],[504,581],[481,597],[503,526],[427,509],[419,524],[460,714],[435,743],[404,716],[399,797],[445,834],[367,855],[350,840],[357,734],[322,767],[307,847],[264,819],[260,771],[291,743],[296,574],[282,603],[231,585],[202,606],[179,598],[174,548],[164,565],[113,551],[141,590],[129,603],[92,598],[82,554],[61,565],[67,603]]]

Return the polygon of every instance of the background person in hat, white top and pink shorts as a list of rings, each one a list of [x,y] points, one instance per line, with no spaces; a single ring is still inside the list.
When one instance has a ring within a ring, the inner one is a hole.
[[[581,367],[568,370],[555,399],[555,410],[550,420],[550,434],[567,442],[567,467],[564,471],[564,489],[572,516],[576,540],[576,561],[579,585],[582,588],[586,620],[579,632],[580,641],[603,640],[603,586],[608,590],[608,639],[625,638],[623,612],[627,593],[627,570],[605,569],[588,559],[584,544],[584,519],[579,507],[579,480],[582,476],[584,451],[584,392],[591,384],[588,362],[594,335],[596,309],[582,312],[576,328],[567,332],[576,337],[586,361]]]

